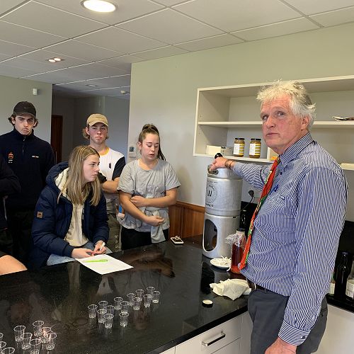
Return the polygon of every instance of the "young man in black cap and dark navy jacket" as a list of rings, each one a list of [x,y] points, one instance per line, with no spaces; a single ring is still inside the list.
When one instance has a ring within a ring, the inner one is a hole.
[[[21,185],[20,193],[6,198],[8,229],[13,237],[13,256],[27,263],[35,204],[55,158],[50,144],[33,133],[38,120],[32,103],[18,102],[8,120],[13,131],[0,136],[0,154]]]

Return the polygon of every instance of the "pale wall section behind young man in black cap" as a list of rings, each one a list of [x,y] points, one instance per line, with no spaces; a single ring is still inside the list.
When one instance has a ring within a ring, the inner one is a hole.
[[[39,120],[35,135],[50,142],[50,125],[52,120],[52,84],[32,80],[13,79],[0,76],[0,135],[13,130],[8,117],[13,113],[13,107],[20,101],[33,103]],[[33,96],[32,89],[38,89],[38,95]]]

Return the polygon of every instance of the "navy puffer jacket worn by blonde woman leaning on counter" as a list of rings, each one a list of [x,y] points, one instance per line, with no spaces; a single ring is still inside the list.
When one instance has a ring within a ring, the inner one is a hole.
[[[50,169],[47,176],[47,185],[40,193],[32,225],[34,247],[30,253],[30,268],[39,268],[47,263],[50,254],[59,256],[72,256],[74,246],[64,241],[72,219],[72,202],[61,195],[55,184],[55,178],[68,163],[61,162]],[[90,204],[91,194],[84,204],[84,217],[82,219],[82,231],[85,236],[96,244],[97,241],[108,241],[108,217],[105,208],[105,197],[101,192],[101,200],[95,207]]]

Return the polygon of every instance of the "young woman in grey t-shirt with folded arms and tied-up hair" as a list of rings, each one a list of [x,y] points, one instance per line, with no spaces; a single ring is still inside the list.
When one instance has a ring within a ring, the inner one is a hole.
[[[122,249],[156,244],[169,237],[169,205],[176,204],[181,185],[161,152],[159,130],[147,124],[139,134],[140,159],[125,165],[118,185]]]

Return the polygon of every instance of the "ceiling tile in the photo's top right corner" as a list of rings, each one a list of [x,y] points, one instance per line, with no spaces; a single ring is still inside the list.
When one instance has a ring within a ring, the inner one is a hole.
[[[354,0],[286,0],[286,2],[298,8],[299,11],[305,15],[312,15],[314,13],[336,10],[337,8],[354,6]]]

